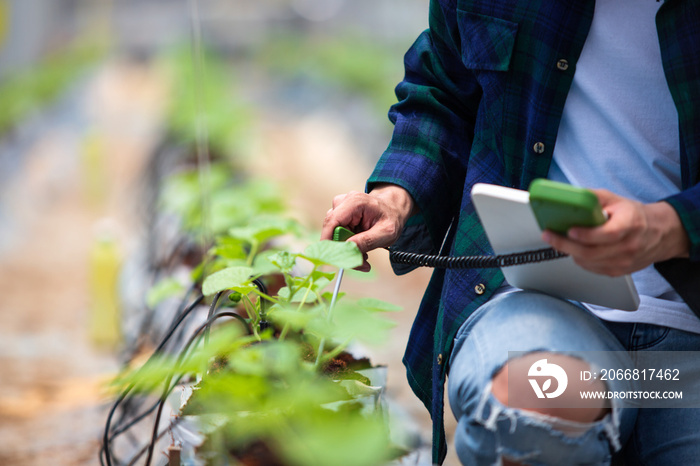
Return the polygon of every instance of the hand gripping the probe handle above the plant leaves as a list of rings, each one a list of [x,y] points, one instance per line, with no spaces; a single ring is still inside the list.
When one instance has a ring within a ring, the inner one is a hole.
[[[368,272],[367,252],[391,246],[413,214],[414,202],[408,191],[393,184],[377,185],[369,194],[351,191],[333,198],[333,208],[326,212],[321,239],[331,239],[337,226],[349,228],[365,261],[358,270]]]

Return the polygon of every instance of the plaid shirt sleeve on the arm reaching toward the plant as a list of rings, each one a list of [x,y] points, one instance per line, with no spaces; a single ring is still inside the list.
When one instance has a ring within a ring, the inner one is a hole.
[[[450,1],[431,2],[430,29],[405,57],[399,102],[389,113],[391,142],[367,184],[368,191],[378,183],[405,188],[436,247],[459,208],[481,99],[462,62],[455,9]]]

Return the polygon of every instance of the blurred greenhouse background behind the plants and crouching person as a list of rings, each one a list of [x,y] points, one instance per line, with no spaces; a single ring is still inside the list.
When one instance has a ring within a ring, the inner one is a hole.
[[[313,231],[334,195],[364,188],[427,9],[0,0],[0,464],[98,462],[105,384],[159,331],[148,290],[173,251],[187,255],[160,210],[180,199],[171,173],[223,160]],[[371,262],[343,286],[403,308],[368,351],[429,452],[401,364],[429,271],[395,277],[384,252]]]

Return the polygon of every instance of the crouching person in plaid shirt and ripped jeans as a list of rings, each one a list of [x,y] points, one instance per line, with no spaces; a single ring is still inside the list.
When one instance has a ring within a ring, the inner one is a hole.
[[[448,377],[466,465],[697,463],[697,409],[521,409],[512,394],[532,389],[509,373],[618,363],[571,351],[700,349],[700,1],[431,0],[405,71],[366,193],[333,199],[323,238],[343,225],[365,253],[490,253],[472,186],[545,177],[595,189],[609,215],[545,241],[592,272],[633,274],[641,298],[623,312],[514,290],[498,269],[435,270],[404,356],[434,462]]]

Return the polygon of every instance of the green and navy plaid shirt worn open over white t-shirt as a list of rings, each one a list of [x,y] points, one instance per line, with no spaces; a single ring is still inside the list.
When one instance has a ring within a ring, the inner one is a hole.
[[[368,181],[368,189],[377,182],[403,186],[420,208],[401,249],[428,244],[437,251],[449,230],[450,254],[491,253],[471,188],[484,182],[526,189],[547,175],[594,6],[594,0],[431,1],[430,27],[406,54],[399,102],[389,113],[393,138]],[[683,191],[667,201],[697,265],[700,1],[667,0],[657,31],[680,122]],[[502,280],[492,269],[436,270],[421,303],[404,363],[432,414],[434,462],[446,452],[443,389],[454,336]]]

